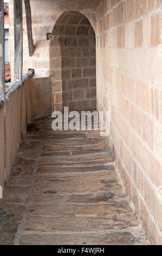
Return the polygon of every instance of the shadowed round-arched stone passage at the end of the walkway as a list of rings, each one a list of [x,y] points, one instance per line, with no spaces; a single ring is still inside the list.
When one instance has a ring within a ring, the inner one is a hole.
[[[50,42],[52,109],[69,111],[96,107],[95,32],[87,17],[65,12],[57,20]]]

